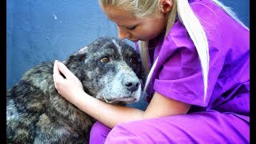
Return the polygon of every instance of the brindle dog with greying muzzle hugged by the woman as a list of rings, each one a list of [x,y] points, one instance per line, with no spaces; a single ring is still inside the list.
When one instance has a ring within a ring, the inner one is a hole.
[[[141,97],[140,56],[118,38],[98,38],[63,63],[79,78],[85,92],[94,98],[125,105],[138,102]],[[53,66],[54,62],[34,66],[7,90],[7,143],[89,142],[95,120],[58,94]]]

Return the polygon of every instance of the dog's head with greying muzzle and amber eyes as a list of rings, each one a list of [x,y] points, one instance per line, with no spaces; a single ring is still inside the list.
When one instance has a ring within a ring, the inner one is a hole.
[[[142,65],[133,47],[117,38],[96,39],[64,62],[87,94],[110,103],[138,102]]]

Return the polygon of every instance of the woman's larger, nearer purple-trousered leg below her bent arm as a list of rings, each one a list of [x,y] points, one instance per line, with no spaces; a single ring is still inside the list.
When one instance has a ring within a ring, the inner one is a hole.
[[[105,143],[250,143],[249,131],[249,122],[211,110],[122,123]]]

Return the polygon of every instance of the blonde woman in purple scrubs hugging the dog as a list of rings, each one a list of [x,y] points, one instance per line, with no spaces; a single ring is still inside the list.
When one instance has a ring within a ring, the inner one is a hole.
[[[99,3],[118,37],[135,42],[150,103],[142,111],[92,98],[55,62],[58,93],[98,120],[90,143],[250,142],[249,30],[226,6],[217,0]]]

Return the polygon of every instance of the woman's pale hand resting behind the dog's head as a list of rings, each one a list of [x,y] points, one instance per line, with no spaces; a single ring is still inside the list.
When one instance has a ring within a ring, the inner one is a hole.
[[[61,73],[66,77],[63,78]],[[82,82],[68,68],[57,60],[54,62],[54,86],[58,94],[66,98],[69,102],[74,103],[76,98],[85,93],[82,88]]]

